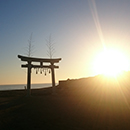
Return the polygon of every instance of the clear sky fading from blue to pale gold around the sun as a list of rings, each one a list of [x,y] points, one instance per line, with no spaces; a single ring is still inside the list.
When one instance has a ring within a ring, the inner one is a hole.
[[[32,33],[34,57],[48,58],[46,40],[54,41],[56,82],[94,76],[93,60],[107,48],[130,59],[130,0],[0,0],[0,84],[26,84],[26,56]],[[49,83],[36,74],[32,83]]]

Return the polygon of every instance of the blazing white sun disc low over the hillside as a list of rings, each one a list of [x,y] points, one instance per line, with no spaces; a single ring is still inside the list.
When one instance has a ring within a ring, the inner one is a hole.
[[[94,61],[94,72],[106,76],[117,76],[122,71],[128,71],[127,57],[119,50],[107,49],[98,54]]]

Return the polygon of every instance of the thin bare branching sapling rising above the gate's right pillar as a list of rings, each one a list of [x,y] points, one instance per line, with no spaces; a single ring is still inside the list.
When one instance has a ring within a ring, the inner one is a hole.
[[[46,45],[48,47],[47,50],[47,55],[50,57],[50,59],[52,59],[52,57],[54,56],[55,53],[55,49],[54,49],[54,41],[51,38],[51,35],[49,36],[49,38],[46,40]]]

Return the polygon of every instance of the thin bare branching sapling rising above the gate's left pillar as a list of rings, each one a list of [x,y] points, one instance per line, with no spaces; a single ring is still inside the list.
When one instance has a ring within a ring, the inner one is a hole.
[[[34,53],[34,45],[32,45],[32,43],[33,43],[32,34],[33,34],[33,33],[31,33],[31,35],[30,35],[30,38],[29,38],[29,40],[28,40],[28,46],[27,46],[27,48],[26,48],[26,55],[27,55],[28,57],[33,56],[33,53]]]

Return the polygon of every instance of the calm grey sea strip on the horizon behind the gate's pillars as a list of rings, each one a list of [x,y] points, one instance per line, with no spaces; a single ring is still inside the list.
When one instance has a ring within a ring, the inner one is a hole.
[[[19,90],[19,89],[25,89],[25,84],[18,84],[18,85],[0,85],[0,91],[2,90]],[[46,84],[32,84],[31,89],[36,89],[36,88],[47,88],[51,87],[51,83],[46,83]]]

